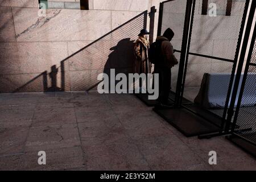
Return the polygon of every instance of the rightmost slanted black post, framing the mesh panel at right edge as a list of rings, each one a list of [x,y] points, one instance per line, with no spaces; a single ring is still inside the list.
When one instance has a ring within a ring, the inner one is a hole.
[[[251,45],[250,45],[250,49],[249,49],[249,53],[248,53],[248,57],[246,60],[246,65],[245,65],[245,72],[243,73],[243,80],[242,80],[242,85],[241,85],[241,90],[240,90],[240,94],[238,97],[238,102],[237,102],[237,107],[236,107],[236,112],[234,115],[234,121],[233,121],[233,125],[232,125],[232,132],[234,132],[236,123],[237,123],[237,118],[238,118],[238,114],[240,111],[240,107],[241,107],[241,102],[242,102],[242,97],[243,97],[243,91],[245,90],[245,84],[246,84],[246,79],[247,79],[247,75],[248,75],[248,71],[249,71],[249,67],[250,67],[250,61],[251,61],[251,57],[252,57],[252,53],[253,53],[253,49],[254,49],[254,44],[255,44],[255,40],[256,40],[256,24],[254,24],[254,28],[253,28],[253,37],[251,38]],[[251,85],[253,86],[253,85]]]

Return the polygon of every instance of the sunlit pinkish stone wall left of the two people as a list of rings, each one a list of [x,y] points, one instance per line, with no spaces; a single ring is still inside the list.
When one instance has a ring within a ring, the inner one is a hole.
[[[159,2],[93,0],[90,10],[48,9],[43,18],[37,0],[0,0],[0,92],[95,89],[98,73],[131,72],[148,17],[121,25]]]

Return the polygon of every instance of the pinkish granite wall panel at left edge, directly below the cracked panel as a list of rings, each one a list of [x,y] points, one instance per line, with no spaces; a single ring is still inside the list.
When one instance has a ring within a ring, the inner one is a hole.
[[[67,42],[0,43],[0,72],[3,74],[42,73],[60,67],[68,56]],[[68,69],[68,63],[65,69]]]

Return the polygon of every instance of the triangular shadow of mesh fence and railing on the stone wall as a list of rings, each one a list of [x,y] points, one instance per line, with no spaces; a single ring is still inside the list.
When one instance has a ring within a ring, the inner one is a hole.
[[[87,46],[77,42],[72,46],[82,48],[60,61],[59,67],[52,65],[51,72],[42,72],[13,93],[33,90],[32,82],[42,82],[44,92],[90,90],[100,82],[98,74],[109,75],[110,69],[114,68],[116,74],[133,73],[134,40],[146,24],[147,11],[144,11]]]

